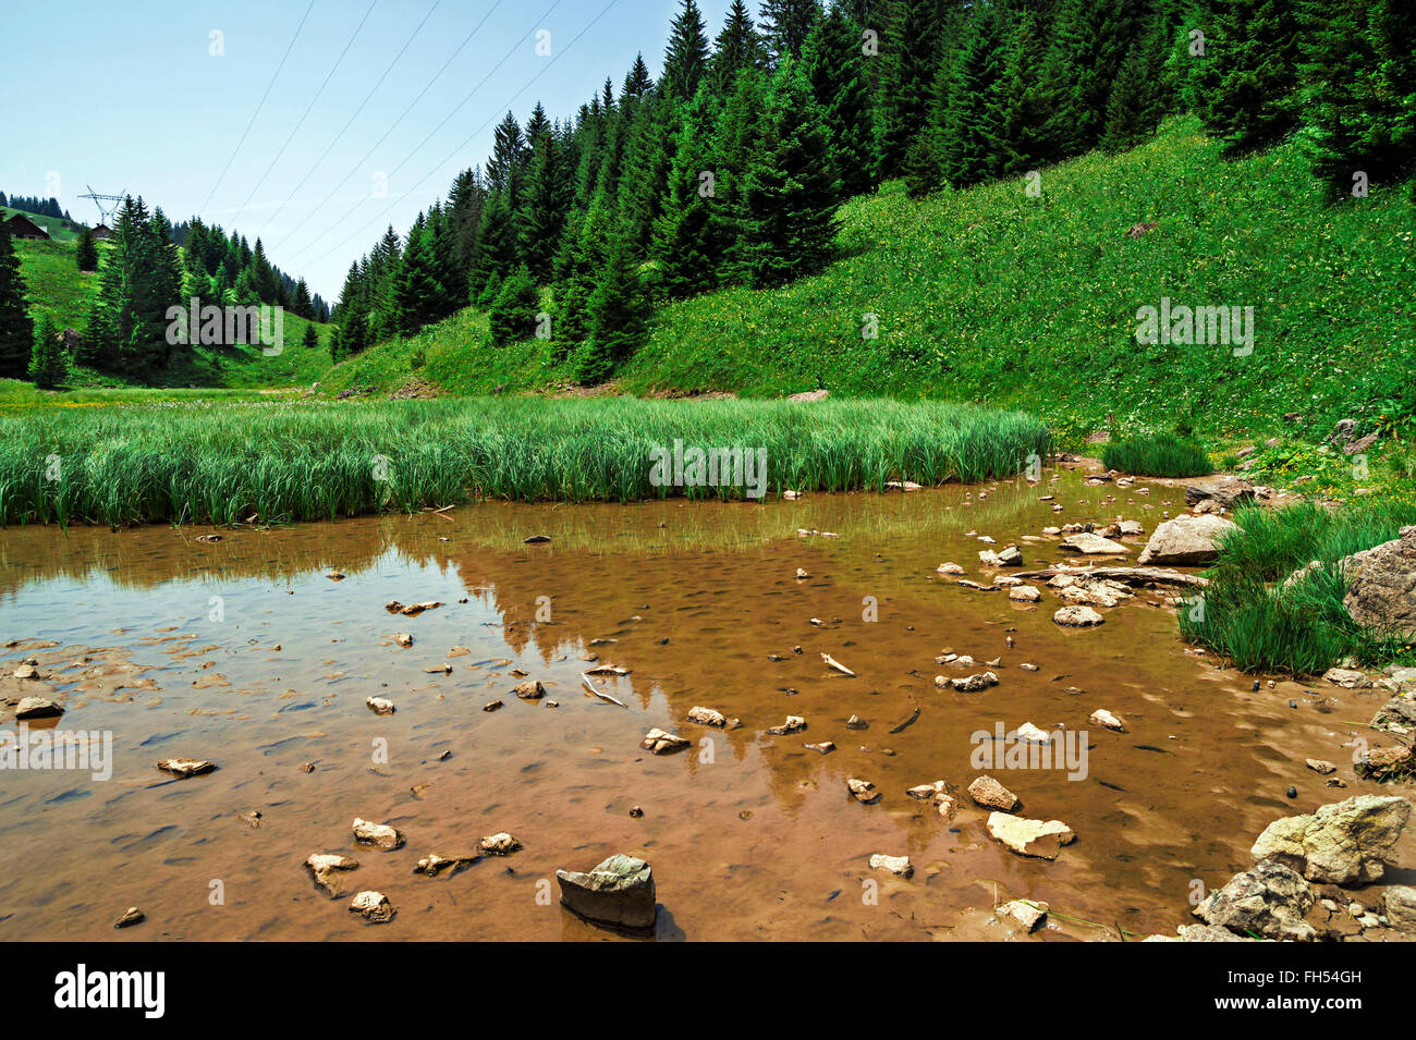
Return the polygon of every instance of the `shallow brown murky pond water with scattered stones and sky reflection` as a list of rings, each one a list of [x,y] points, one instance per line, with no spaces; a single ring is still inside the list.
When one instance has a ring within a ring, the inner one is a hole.
[[[1045,491],[1063,512],[1038,501]],[[1017,542],[1031,567],[1061,559],[1044,526],[1124,516],[1151,531],[1181,508],[1174,488],[1058,474],[1044,488],[759,505],[483,504],[225,532],[215,545],[171,528],[0,532],[0,641],[18,641],[4,675],[37,657],[67,707],[59,726],[110,730],[115,756],[108,781],[0,773],[0,938],[603,938],[556,904],[554,874],[620,850],[654,866],[658,938],[1018,937],[990,921],[995,897],[1051,903],[1056,927],[1034,938],[1172,934],[1191,920],[1192,879],[1216,886],[1245,869],[1269,821],[1378,790],[1344,747],[1376,698],[1291,682],[1252,692],[1250,678],[1185,649],[1160,593],[1103,611],[1096,630],[1063,630],[1049,590],[1027,606],[935,567],[954,560],[980,577],[987,546],[971,531]],[[523,545],[532,533],[552,541]],[[394,599],[443,606],[402,617],[384,608]],[[399,631],[411,648],[395,645]],[[1001,657],[1001,685],[936,688],[939,672],[976,671],[936,665],[944,649]],[[583,692],[586,654],[632,669],[605,685],[627,709]],[[425,671],[445,662],[450,675]],[[517,668],[558,706],[511,695]],[[4,683],[0,695],[18,695]],[[370,712],[375,693],[396,715]],[[496,699],[506,706],[481,710]],[[742,727],[695,726],[695,705]],[[978,730],[1087,729],[1096,707],[1129,732],[1090,727],[1083,780],[991,770],[1021,815],[1076,831],[1056,862],[993,842],[967,797],[944,821],[905,794],[967,785]],[[765,733],[789,713],[809,729]],[[852,713],[869,729],[847,729]],[[14,727],[13,709],[0,726]],[[651,756],[639,741],[654,726],[698,743]],[[830,754],[803,747],[827,740]],[[154,768],[169,757],[219,768],[171,780]],[[1325,788],[1306,757],[1340,763],[1347,790]],[[879,802],[855,802],[848,777],[872,781]],[[262,826],[238,819],[248,809]],[[392,824],[408,845],[355,848],[355,816]],[[498,831],[525,849],[453,876],[412,873],[426,853],[464,853]],[[314,852],[360,860],[344,899],[312,884],[302,862]],[[871,870],[877,852],[908,855],[915,876]],[[347,913],[361,889],[387,893],[398,917],[371,927]],[[116,932],[129,906],[147,921]]]

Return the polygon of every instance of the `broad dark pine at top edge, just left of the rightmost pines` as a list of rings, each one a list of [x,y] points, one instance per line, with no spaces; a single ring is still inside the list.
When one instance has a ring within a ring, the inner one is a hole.
[[[1273,144],[1297,126],[1300,40],[1291,0],[1229,0],[1215,8],[1199,116],[1231,151]]]

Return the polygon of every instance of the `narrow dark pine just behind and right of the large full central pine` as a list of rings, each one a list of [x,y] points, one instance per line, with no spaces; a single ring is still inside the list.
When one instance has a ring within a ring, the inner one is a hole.
[[[847,195],[871,191],[879,170],[867,61],[861,27],[840,7],[816,23],[801,48],[801,68],[826,116],[837,175]]]

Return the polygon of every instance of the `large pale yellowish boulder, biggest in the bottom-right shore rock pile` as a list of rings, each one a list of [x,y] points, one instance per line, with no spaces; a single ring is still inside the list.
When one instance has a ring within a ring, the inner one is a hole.
[[[1253,843],[1253,857],[1286,863],[1310,882],[1376,882],[1410,814],[1412,804],[1396,795],[1364,794],[1321,805],[1308,816],[1269,824]]]

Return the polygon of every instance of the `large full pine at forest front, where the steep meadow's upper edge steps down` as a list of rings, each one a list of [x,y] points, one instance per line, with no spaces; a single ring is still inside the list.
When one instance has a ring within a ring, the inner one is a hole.
[[[797,62],[784,59],[772,76],[762,144],[743,192],[755,284],[777,284],[826,263],[840,192],[826,119]]]

